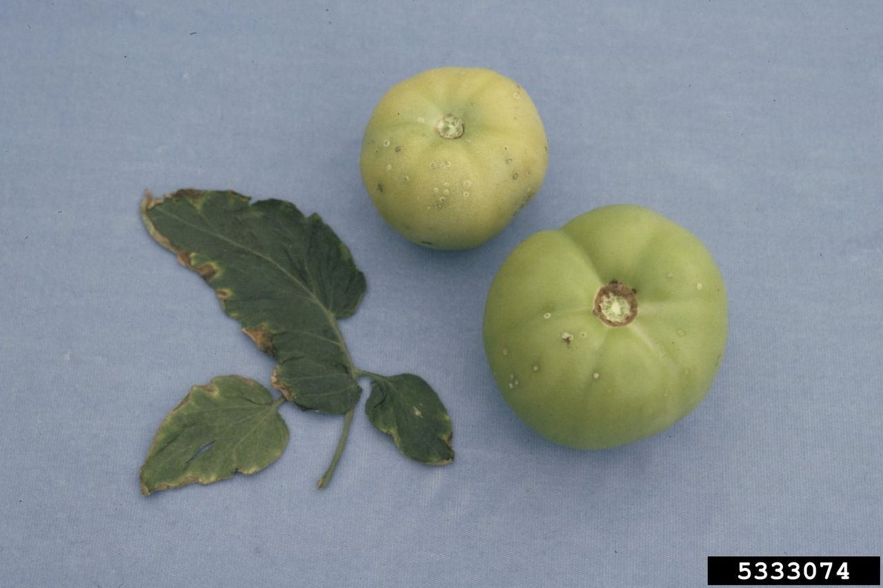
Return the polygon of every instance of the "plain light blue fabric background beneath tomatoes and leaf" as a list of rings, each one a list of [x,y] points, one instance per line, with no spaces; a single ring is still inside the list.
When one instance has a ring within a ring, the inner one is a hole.
[[[709,554],[883,552],[883,4],[4,2],[0,569],[10,586],[700,586]],[[464,253],[404,241],[358,174],[397,81],[516,79],[546,124],[532,204]],[[361,411],[283,407],[251,478],[143,498],[193,384],[273,362],[147,236],[143,192],[317,212],[366,273],[358,366],[423,375],[457,460],[412,464]],[[494,388],[487,288],[536,230],[651,207],[729,292],[713,388],[667,433],[556,447]]]

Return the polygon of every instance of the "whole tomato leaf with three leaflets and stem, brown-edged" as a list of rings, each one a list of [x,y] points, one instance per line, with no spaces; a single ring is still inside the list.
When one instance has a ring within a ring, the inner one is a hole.
[[[318,215],[305,216],[283,200],[251,203],[237,192],[179,190],[162,199],[148,193],[141,218],[160,245],[215,289],[224,312],[260,351],[277,359],[271,381],[283,393],[273,400],[266,388],[238,376],[192,388],[156,433],[141,468],[144,494],[272,463],[288,441],[276,412],[284,399],[346,415],[319,482],[327,486],[361,395],[360,375],[374,379],[368,417],[405,456],[425,464],[453,460],[448,413],[425,381],[353,365],[337,320],[355,313],[365,276]]]

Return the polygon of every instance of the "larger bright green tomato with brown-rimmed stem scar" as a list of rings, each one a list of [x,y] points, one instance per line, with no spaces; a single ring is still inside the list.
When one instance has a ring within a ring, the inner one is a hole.
[[[727,295],[705,245],[633,205],[525,239],[487,295],[484,343],[517,416],[577,449],[660,433],[706,396]]]

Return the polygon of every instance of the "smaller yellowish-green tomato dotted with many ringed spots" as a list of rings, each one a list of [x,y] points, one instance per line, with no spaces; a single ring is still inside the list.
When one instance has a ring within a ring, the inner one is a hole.
[[[362,139],[362,180],[386,222],[419,245],[468,249],[503,230],[540,190],[546,132],[524,88],[444,67],[383,96]]]

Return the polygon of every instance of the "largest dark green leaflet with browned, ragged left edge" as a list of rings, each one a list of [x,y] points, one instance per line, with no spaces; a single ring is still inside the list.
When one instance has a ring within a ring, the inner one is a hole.
[[[179,190],[141,202],[148,232],[215,289],[223,310],[278,360],[273,385],[305,410],[350,411],[361,388],[337,319],[356,311],[363,275],[318,215],[237,192]]]

